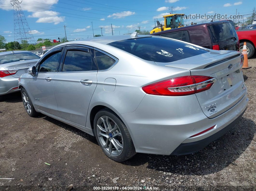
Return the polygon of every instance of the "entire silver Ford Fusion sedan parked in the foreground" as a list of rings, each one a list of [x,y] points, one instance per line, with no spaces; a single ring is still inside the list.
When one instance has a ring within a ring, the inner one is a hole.
[[[96,137],[115,161],[184,155],[225,134],[247,108],[240,52],[148,35],[50,49],[20,77],[24,107]]]

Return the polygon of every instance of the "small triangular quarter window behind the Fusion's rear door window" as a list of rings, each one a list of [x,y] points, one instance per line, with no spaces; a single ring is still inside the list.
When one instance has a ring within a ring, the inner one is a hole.
[[[99,70],[106,70],[110,68],[114,63],[115,60],[113,58],[110,58],[109,56],[95,50],[95,57],[97,60],[97,65]]]

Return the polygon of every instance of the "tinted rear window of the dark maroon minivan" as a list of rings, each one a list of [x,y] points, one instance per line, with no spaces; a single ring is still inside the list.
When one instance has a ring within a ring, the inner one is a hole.
[[[220,23],[208,26],[212,43],[230,40],[232,37],[237,38],[237,33],[230,23]]]

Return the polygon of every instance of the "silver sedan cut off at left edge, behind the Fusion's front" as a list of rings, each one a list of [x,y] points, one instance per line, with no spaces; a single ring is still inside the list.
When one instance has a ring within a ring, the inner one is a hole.
[[[20,91],[18,79],[34,66],[39,56],[30,51],[7,51],[0,53],[0,100],[2,95]]]

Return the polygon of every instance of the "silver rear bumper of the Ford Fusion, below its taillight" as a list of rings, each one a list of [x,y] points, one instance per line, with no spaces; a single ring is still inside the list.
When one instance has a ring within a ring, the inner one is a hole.
[[[131,134],[136,152],[171,155],[176,153],[177,148],[184,147],[182,145],[192,145],[187,148],[191,149],[190,151],[177,152],[181,155],[204,148],[220,137],[222,132],[228,131],[226,127],[237,122],[237,118],[240,118],[247,108],[248,100],[245,94],[229,110],[209,119],[202,112],[195,94],[176,97],[147,94],[134,112],[119,114],[119,117]],[[215,127],[191,137],[212,126]],[[227,130],[221,131],[224,128]],[[203,145],[199,147],[199,143]],[[193,148],[193,145],[196,148]]]

